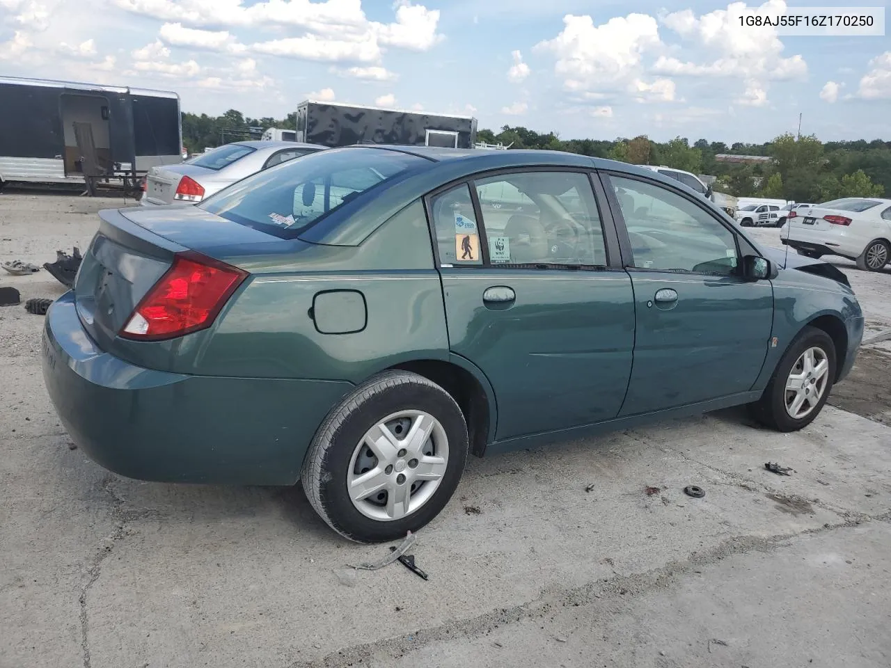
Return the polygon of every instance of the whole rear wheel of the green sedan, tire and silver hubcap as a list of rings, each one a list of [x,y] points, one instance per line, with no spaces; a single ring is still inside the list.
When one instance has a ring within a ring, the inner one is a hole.
[[[356,542],[386,542],[437,517],[468,453],[467,423],[446,390],[409,371],[357,387],[325,419],[300,480],[315,511]]]

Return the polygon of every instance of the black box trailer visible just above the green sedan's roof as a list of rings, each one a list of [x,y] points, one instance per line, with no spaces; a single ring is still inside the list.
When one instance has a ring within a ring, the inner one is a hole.
[[[331,148],[389,143],[472,149],[477,119],[307,100],[297,108],[297,141]]]

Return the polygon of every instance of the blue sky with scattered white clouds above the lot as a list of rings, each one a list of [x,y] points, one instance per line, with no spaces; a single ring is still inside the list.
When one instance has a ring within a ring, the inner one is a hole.
[[[891,37],[781,37],[740,27],[744,6],[0,0],[0,76],[176,91],[184,111],[210,115],[283,118],[310,98],[562,139],[762,143],[802,114],[802,133],[823,141],[891,140]]]

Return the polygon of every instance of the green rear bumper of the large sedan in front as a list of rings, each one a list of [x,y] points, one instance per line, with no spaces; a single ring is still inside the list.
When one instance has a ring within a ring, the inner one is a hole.
[[[188,376],[143,369],[103,352],[74,296],[46,314],[46,389],[88,457],[139,480],[293,485],[343,381]]]

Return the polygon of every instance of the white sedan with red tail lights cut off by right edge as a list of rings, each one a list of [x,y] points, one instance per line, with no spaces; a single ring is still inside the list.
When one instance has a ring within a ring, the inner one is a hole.
[[[789,211],[780,236],[800,255],[838,255],[878,272],[891,261],[891,200],[846,197]]]

